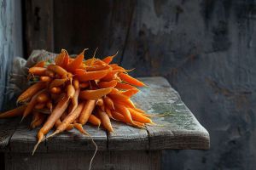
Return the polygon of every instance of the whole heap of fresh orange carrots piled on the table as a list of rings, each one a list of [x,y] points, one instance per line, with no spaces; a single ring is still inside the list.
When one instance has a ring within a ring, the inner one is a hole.
[[[84,60],[84,51],[71,58],[62,49],[55,62],[40,61],[29,68],[28,79],[37,81],[20,94],[20,106],[0,115],[22,116],[21,122],[32,115],[31,128],[42,126],[33,153],[44,139],[63,131],[76,128],[88,135],[83,128],[87,122],[108,132],[113,132],[111,119],[133,127],[153,123],[130,99],[139,92],[136,87],[145,84],[129,76],[123,67],[110,64],[116,54]],[[45,138],[53,127],[55,132]]]

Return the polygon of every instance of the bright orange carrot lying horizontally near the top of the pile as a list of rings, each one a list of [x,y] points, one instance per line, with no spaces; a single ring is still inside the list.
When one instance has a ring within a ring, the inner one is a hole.
[[[81,71],[78,71],[79,69],[76,70],[75,75],[78,77],[79,81],[81,82],[86,82],[89,80],[96,80],[96,79],[101,79],[102,77],[105,77],[109,70],[103,70],[103,71],[88,71],[83,73]]]

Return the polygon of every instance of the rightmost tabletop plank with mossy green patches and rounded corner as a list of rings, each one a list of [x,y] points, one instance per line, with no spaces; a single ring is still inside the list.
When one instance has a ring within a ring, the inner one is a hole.
[[[144,111],[166,116],[154,117],[159,126],[147,126],[150,150],[209,149],[207,130],[184,105],[177,92],[163,77],[144,77],[149,85],[134,100]]]

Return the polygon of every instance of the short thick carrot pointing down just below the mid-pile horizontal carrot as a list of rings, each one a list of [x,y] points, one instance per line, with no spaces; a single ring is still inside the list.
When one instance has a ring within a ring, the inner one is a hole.
[[[91,115],[91,112],[95,108],[95,105],[96,105],[96,100],[87,100],[85,102],[83,111],[81,112],[81,114],[79,116],[79,123],[84,125],[88,121],[88,119]]]

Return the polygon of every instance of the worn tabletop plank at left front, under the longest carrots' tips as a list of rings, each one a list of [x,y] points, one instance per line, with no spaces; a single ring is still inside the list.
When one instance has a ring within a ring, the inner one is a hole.
[[[28,122],[17,127],[9,144],[9,149],[13,152],[32,152],[34,145],[37,143],[37,133],[39,128],[28,130]],[[84,129],[91,134],[98,146],[98,150],[107,149],[107,134],[102,129],[85,125]],[[48,133],[51,134],[53,131]],[[40,144],[37,152],[54,152],[54,151],[72,151],[72,150],[95,150],[90,137],[84,136],[76,129],[69,132],[57,134],[52,139],[47,139]]]

